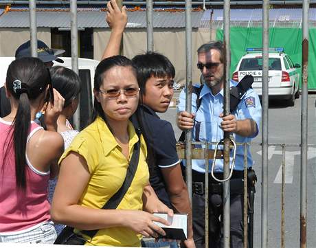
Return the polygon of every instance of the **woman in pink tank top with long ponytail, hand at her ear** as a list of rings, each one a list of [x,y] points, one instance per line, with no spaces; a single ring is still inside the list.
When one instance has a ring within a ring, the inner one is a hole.
[[[0,118],[0,242],[54,243],[47,185],[63,153],[56,120],[64,100],[38,58],[14,60],[5,91],[11,112]],[[44,131],[32,120],[47,101]]]

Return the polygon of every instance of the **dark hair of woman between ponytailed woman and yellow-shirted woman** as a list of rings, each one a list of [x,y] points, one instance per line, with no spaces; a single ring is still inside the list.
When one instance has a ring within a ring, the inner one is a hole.
[[[56,66],[49,69],[52,84],[60,95],[65,99],[64,108],[71,104],[81,89],[81,80],[76,72],[62,66]]]

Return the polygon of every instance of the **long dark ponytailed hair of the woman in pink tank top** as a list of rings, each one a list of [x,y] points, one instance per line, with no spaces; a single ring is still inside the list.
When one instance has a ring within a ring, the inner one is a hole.
[[[25,150],[31,123],[30,101],[37,99],[44,93],[47,84],[50,84],[49,71],[40,59],[20,58],[9,65],[5,85],[11,95],[18,101],[18,109],[12,124],[13,135],[10,137],[8,147],[11,146],[13,138],[16,185],[18,188],[26,188]],[[7,148],[3,156],[4,161],[8,151]]]

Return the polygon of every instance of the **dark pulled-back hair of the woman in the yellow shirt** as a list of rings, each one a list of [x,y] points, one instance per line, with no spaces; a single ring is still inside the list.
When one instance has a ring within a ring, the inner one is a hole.
[[[135,73],[136,76],[136,69],[135,66],[133,65],[132,61],[124,56],[112,56],[109,58],[105,58],[102,60],[97,68],[95,69],[95,74],[94,74],[94,89],[95,91],[100,91],[100,86],[103,83],[104,77],[106,75],[106,71],[109,71],[109,69],[113,67],[131,67],[133,72]],[[94,122],[95,119],[100,116],[106,122],[106,117],[104,115],[102,106],[100,102],[94,97],[94,104],[93,104],[93,111],[92,111],[92,117],[91,117],[91,122]]]

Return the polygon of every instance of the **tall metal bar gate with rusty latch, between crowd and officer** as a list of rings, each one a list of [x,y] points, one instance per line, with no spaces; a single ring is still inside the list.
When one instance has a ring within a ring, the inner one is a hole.
[[[32,56],[36,54],[36,1],[30,0],[30,33]],[[307,212],[307,98],[308,98],[308,0],[303,0],[303,36],[302,36],[302,109],[301,109],[301,143],[300,144],[270,144],[268,137],[268,61],[269,61],[269,0],[262,1],[262,143],[261,144],[236,144],[243,146],[245,151],[245,169],[247,168],[247,146],[258,145],[262,147],[262,206],[261,206],[261,247],[268,247],[268,148],[269,146],[282,147],[282,243],[284,247],[284,171],[285,171],[285,150],[289,146],[300,146],[301,149],[301,175],[300,175],[300,247],[306,247],[306,212]],[[71,9],[71,57],[72,69],[78,73],[78,30],[77,30],[77,1],[70,1]],[[147,49],[153,50],[153,1],[146,1],[147,9]],[[186,95],[186,111],[191,112],[192,102],[192,25],[191,25],[192,2],[185,0],[185,56],[186,56],[186,88],[189,89]],[[230,19],[230,1],[224,0],[224,48],[225,48],[225,109],[224,114],[229,114],[229,67],[230,67],[230,40],[229,40],[229,19]],[[78,108],[79,109],[79,108]],[[76,126],[79,126],[79,111],[74,116]],[[194,148],[194,145],[203,145],[205,148]],[[215,151],[208,149],[213,143],[192,142],[191,132],[185,133],[185,146],[178,145],[179,158],[186,159],[186,179],[190,200],[192,201],[192,164],[191,159],[205,159],[205,167],[210,167],[209,159],[224,159],[224,177],[229,177],[229,150],[232,145],[229,139],[229,133],[224,134],[224,149]],[[216,144],[216,143],[215,143]],[[315,145],[314,145],[315,146]],[[208,203],[208,174],[205,173],[205,201]],[[224,203],[224,247],[229,248],[229,229],[230,229],[230,206],[229,206],[229,180],[223,183]],[[247,243],[247,170],[244,170],[244,247]],[[205,220],[208,219],[208,204],[205,204]],[[208,222],[205,221],[205,245],[208,247]]]

